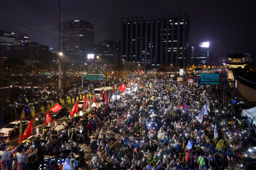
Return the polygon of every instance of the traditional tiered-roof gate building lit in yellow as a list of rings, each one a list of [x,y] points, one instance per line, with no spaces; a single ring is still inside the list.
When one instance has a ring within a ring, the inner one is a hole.
[[[226,65],[229,66],[229,68],[244,68],[248,63],[244,60],[246,59],[247,55],[242,55],[239,53],[235,53],[232,55],[227,55],[228,62],[226,62]]]

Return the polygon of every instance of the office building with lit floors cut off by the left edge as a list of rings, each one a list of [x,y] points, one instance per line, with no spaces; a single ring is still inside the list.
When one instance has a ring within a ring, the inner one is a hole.
[[[6,46],[14,45],[15,34],[0,30],[0,50],[6,50]]]

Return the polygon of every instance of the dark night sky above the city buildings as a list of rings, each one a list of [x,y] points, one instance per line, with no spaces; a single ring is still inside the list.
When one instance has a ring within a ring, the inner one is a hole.
[[[16,37],[26,33],[34,42],[58,48],[58,0],[0,0],[0,4],[0,29]],[[255,7],[255,0],[60,0],[60,20],[94,23],[97,44],[120,40],[121,17],[187,12],[189,45],[209,41],[212,55],[254,54]]]

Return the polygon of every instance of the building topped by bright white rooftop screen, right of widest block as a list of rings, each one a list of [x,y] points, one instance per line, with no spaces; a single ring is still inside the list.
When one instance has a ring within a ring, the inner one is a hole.
[[[194,57],[192,61],[197,66],[198,64],[209,64],[209,42],[199,43],[199,47],[194,49]]]

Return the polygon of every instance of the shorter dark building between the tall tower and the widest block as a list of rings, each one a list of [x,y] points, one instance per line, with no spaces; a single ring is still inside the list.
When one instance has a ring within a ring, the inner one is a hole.
[[[98,64],[116,64],[119,62],[119,45],[114,41],[105,40],[104,43],[94,45],[94,54]]]

